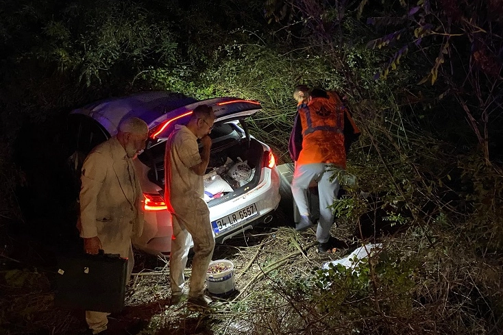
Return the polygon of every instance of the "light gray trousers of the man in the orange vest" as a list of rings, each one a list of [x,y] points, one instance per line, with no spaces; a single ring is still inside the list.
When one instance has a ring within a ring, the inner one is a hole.
[[[338,169],[337,166],[328,163],[295,164],[293,173],[292,195],[301,216],[310,218],[307,191],[313,180],[318,183],[319,223],[316,238],[319,243],[328,242],[330,228],[334,224],[334,213],[329,208],[339,193],[339,180],[334,178],[330,182],[334,169]]]

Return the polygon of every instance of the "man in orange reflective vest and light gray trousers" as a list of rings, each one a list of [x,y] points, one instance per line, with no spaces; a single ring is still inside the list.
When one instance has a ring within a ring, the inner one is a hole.
[[[330,206],[339,193],[339,180],[330,179],[334,171],[346,168],[345,119],[351,123],[354,134],[360,131],[336,92],[320,88],[309,92],[306,86],[297,86],[293,97],[298,102],[298,113],[289,141],[290,155],[295,161],[291,188],[301,215],[295,229],[302,231],[312,225],[307,191],[315,181],[320,213],[316,231],[318,251],[327,252],[332,249],[330,228],[334,223]]]

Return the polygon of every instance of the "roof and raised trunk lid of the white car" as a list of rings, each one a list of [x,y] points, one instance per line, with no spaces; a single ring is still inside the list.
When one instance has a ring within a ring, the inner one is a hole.
[[[127,97],[114,97],[77,108],[71,114],[84,114],[95,119],[110,134],[117,133],[122,119],[136,116],[149,125],[149,129],[169,122],[193,110],[198,105],[206,103],[212,106],[218,121],[256,113],[262,107],[255,101],[247,101],[234,97],[219,97],[197,101],[178,93],[168,91],[142,92]]]

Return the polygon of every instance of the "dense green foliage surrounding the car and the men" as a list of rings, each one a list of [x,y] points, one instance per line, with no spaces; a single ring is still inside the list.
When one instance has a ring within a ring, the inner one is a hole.
[[[387,245],[358,273],[284,280],[271,301],[296,312],[269,310],[275,334],[499,333],[501,1],[0,4],[0,219],[27,221],[19,192],[47,186],[32,166],[64,164],[53,132],[73,107],[158,89],[256,99],[255,134],[284,162],[293,86],[323,86],[348,97],[363,131],[347,169],[357,183],[334,203],[339,225],[400,229],[358,227]],[[47,192],[38,200],[57,207]]]

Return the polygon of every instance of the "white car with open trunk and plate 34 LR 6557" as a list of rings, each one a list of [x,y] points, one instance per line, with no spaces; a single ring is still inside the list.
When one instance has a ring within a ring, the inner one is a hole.
[[[69,114],[69,163],[76,176],[86,154],[114,136],[122,119],[137,116],[149,125],[147,147],[134,160],[145,223],[143,235],[133,243],[147,253],[169,256],[171,251],[171,214],[164,203],[166,140],[174,125],[186,123],[201,103],[212,106],[216,116],[204,184],[214,237],[221,243],[271,221],[280,202],[280,177],[271,148],[251,136],[246,126],[245,119],[261,109],[260,103],[232,97],[196,101],[170,92],[145,92],[91,103]]]

